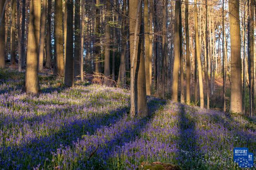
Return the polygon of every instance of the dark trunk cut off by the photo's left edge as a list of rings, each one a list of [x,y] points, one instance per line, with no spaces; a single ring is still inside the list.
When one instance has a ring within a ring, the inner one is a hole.
[[[4,12],[4,0],[0,0],[0,15]],[[5,15],[0,25],[0,68],[5,68]]]

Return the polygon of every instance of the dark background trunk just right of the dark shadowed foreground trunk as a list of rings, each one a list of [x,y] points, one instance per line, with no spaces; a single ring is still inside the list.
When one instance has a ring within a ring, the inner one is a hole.
[[[75,0],[74,14],[74,77],[80,76],[80,59],[81,59],[81,17],[80,17],[80,0]]]

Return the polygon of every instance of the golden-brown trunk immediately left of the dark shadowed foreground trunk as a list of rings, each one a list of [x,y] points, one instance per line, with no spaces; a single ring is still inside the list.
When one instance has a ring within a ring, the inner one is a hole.
[[[55,54],[57,73],[59,76],[63,76],[64,75],[64,59],[63,59],[63,32],[62,32],[62,0],[55,0],[54,39],[55,39],[54,54]]]

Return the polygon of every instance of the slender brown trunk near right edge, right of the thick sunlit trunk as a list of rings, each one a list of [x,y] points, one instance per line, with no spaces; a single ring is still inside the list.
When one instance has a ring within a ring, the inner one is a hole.
[[[249,72],[249,102],[250,116],[253,117],[254,111],[254,0],[248,0],[249,5],[249,28],[248,28],[248,72]]]

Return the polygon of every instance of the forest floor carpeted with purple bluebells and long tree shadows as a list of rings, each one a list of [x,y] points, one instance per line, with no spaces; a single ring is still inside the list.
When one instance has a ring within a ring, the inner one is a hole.
[[[0,70],[0,169],[239,169],[234,147],[256,154],[256,119],[148,97],[150,116],[129,116],[128,90],[88,82],[66,88],[40,74],[41,93],[22,92],[24,73]],[[254,165],[256,163],[254,156]]]

